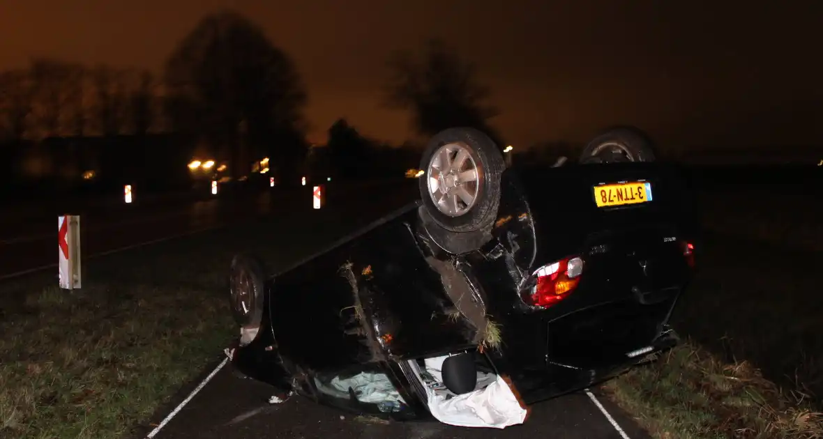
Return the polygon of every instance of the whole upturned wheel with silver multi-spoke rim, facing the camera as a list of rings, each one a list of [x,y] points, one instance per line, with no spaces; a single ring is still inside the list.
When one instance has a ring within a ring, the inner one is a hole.
[[[423,204],[432,219],[452,232],[491,224],[500,206],[500,149],[474,128],[449,128],[431,138],[421,159]]]

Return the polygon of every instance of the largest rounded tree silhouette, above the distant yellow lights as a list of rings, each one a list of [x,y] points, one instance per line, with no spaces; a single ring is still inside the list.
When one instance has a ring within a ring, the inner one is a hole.
[[[166,62],[165,85],[174,130],[228,150],[235,177],[267,150],[278,162],[304,158],[305,145],[295,139],[303,85],[286,53],[243,16],[203,17]]]

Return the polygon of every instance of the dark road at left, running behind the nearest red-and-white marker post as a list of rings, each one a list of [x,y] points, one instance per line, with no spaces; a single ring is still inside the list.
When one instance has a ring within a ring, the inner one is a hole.
[[[398,183],[392,183],[397,187]],[[407,183],[400,182],[400,186]],[[363,196],[363,184],[327,187],[327,206]],[[354,194],[354,195],[352,195]],[[200,230],[239,224],[254,217],[289,215],[294,206],[309,207],[312,188],[298,187],[244,194],[219,194],[194,201],[188,198],[152,200],[111,206],[89,203],[63,213],[80,215],[82,258],[124,247],[151,243]],[[0,280],[30,270],[49,268],[58,261],[58,215],[49,205],[40,214],[14,215],[13,207],[0,218]],[[61,208],[62,209],[62,208]],[[56,270],[56,268],[55,268]]]

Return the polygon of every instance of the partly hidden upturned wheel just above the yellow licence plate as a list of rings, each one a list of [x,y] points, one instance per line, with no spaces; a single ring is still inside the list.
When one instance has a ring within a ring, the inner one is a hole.
[[[580,155],[581,164],[653,162],[649,136],[635,127],[616,127],[588,142]]]

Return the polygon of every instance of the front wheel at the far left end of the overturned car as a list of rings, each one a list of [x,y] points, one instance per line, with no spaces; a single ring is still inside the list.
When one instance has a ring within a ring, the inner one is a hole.
[[[260,326],[263,321],[263,288],[266,270],[257,257],[239,253],[231,260],[229,275],[229,305],[237,324],[245,329]],[[240,302],[239,294],[245,292],[248,299]],[[243,307],[245,304],[245,310]]]

